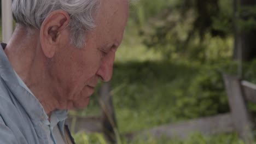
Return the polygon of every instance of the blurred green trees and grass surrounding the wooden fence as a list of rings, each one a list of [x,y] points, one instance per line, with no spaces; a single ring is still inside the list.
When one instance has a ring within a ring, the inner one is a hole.
[[[109,82],[117,143],[244,143],[237,133],[184,139],[125,134],[230,111],[222,74],[256,82],[255,0],[137,0]],[[101,115],[100,87],[84,110]],[[254,111],[255,106],[249,104]],[[75,121],[72,121],[75,125]],[[77,143],[107,143],[102,133],[78,131]],[[94,127],[94,125],[92,125]]]

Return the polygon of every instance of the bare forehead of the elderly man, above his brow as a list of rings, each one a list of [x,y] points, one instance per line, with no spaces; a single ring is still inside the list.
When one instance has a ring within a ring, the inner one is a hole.
[[[120,43],[127,17],[127,0],[101,0],[95,19],[97,39]]]

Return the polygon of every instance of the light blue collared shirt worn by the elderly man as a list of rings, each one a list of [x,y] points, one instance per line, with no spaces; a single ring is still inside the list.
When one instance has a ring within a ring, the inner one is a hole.
[[[66,110],[56,110],[48,121],[43,106],[15,74],[0,46],[0,143],[57,143],[51,129],[57,125],[63,134],[66,115]]]

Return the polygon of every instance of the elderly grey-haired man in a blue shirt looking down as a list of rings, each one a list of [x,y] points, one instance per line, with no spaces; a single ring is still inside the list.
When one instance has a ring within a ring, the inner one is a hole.
[[[13,0],[16,28],[0,49],[0,143],[73,143],[67,109],[109,81],[127,0]],[[4,20],[3,20],[4,21]]]

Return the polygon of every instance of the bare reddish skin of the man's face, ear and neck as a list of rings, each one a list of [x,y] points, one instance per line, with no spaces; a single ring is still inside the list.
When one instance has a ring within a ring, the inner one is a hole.
[[[78,49],[70,43],[66,11],[56,10],[40,29],[17,25],[5,53],[46,113],[88,105],[97,81],[112,77],[115,51],[123,38],[128,17],[126,0],[101,0],[96,28]]]

